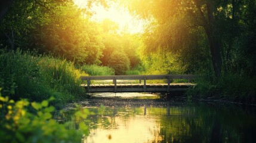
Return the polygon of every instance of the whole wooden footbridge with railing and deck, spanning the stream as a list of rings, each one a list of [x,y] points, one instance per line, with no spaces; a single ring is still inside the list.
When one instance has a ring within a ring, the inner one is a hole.
[[[87,92],[171,92],[186,91],[187,88],[195,86],[195,83],[190,83],[195,77],[192,74],[166,74],[82,76],[81,79],[87,81],[87,84],[82,84]],[[179,83],[174,83],[175,80]]]

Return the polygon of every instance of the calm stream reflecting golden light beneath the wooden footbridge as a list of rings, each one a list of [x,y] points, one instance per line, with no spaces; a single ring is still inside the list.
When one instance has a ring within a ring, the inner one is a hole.
[[[155,94],[95,94],[84,142],[256,142],[256,108],[165,100]],[[72,116],[72,112],[67,111]]]

